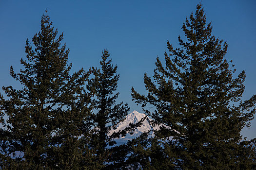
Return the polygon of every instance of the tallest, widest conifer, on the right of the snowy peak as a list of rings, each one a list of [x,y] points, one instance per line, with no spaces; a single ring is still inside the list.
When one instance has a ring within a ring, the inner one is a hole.
[[[157,58],[153,79],[145,73],[147,95],[132,88],[138,104],[155,106],[145,110],[155,123],[170,127],[156,132],[163,152],[156,156],[151,147],[151,168],[159,169],[159,162],[168,169],[256,168],[255,139],[240,134],[256,112],[256,95],[241,100],[245,71],[233,78],[236,69],[224,59],[228,44],[212,35],[201,4],[182,30],[179,48],[167,41],[165,66]]]

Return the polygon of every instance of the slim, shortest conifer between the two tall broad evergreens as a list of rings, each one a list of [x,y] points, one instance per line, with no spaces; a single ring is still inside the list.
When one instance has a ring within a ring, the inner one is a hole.
[[[109,131],[111,128],[115,129],[118,122],[122,121],[129,111],[127,104],[116,102],[119,95],[119,92],[115,93],[119,74],[117,74],[117,66],[114,67],[111,64],[112,60],[108,59],[109,56],[109,51],[102,51],[101,68],[92,68],[94,77],[87,85],[87,89],[94,95],[92,100],[95,108],[92,115],[93,128],[96,130],[94,146],[97,148],[98,159],[102,165],[110,156],[111,151],[108,147],[115,144],[114,136],[111,136]]]

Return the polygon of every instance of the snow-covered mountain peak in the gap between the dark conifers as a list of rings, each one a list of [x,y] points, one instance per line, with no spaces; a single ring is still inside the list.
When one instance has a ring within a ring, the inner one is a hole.
[[[121,137],[119,139],[115,139],[116,142],[118,144],[122,144],[122,143],[125,143],[127,142],[128,140],[131,140],[135,137],[138,137],[140,136],[143,132],[147,132],[147,131],[151,131],[150,132],[150,136],[154,135],[153,133],[153,130],[159,130],[159,128],[161,126],[165,126],[163,124],[160,124],[160,125],[155,125],[153,127],[152,123],[150,121],[152,121],[152,119],[150,119],[148,116],[146,116],[144,113],[139,113],[137,112],[136,110],[134,110],[132,113],[130,113],[129,115],[127,115],[124,119],[124,121],[120,122],[118,125],[117,125],[117,129],[116,130],[111,130],[109,132],[109,134],[111,135],[113,132],[118,132],[118,131],[121,131],[121,130],[124,130],[126,127],[129,127],[129,124],[130,123],[138,123],[138,121],[140,121],[141,119],[143,119],[144,117],[147,117],[144,121],[143,121],[143,124],[138,127],[135,131],[134,131],[134,134],[133,135],[130,135],[130,134],[127,134],[126,136],[124,137]],[[165,126],[166,127],[166,126]]]

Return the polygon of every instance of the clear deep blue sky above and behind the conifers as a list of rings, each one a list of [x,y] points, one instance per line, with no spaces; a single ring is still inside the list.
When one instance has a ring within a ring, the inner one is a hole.
[[[70,48],[73,71],[99,66],[108,49],[118,65],[119,102],[130,111],[142,109],[131,100],[131,87],[145,93],[143,75],[153,75],[156,57],[164,62],[166,41],[177,46],[182,23],[199,0],[0,0],[0,86],[20,85],[9,74],[21,68],[25,40],[40,30],[45,9]],[[229,44],[227,60],[246,70],[243,100],[256,94],[256,1],[202,0],[213,34]],[[0,90],[2,93],[2,90]],[[256,119],[242,134],[256,137]]]

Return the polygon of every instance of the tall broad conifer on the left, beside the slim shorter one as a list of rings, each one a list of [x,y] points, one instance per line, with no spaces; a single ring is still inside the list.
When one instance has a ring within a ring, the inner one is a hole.
[[[41,30],[26,40],[24,69],[11,76],[22,89],[3,87],[0,96],[0,169],[95,169],[90,140],[90,96],[84,86],[90,73],[70,75],[69,49],[61,46],[50,17],[41,17]],[[4,119],[7,118],[7,119]],[[21,153],[20,155],[15,155]]]

